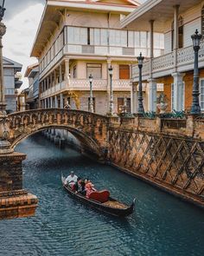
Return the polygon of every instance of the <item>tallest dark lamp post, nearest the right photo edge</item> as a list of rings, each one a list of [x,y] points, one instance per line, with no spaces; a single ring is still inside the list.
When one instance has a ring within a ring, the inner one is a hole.
[[[191,106],[190,114],[197,115],[201,114],[201,107],[199,102],[199,74],[198,74],[198,52],[200,49],[200,43],[201,43],[201,34],[198,33],[198,30],[195,30],[194,35],[191,36],[193,40],[193,46],[194,46],[194,85],[193,85],[193,102]]]

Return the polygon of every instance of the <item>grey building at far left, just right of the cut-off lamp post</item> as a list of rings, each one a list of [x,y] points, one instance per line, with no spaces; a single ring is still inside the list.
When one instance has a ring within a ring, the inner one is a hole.
[[[3,57],[3,86],[8,113],[15,112],[17,108],[17,89],[22,86],[19,80],[22,64]]]

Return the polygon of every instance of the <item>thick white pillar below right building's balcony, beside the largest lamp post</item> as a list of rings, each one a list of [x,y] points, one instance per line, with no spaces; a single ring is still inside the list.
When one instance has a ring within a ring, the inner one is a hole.
[[[183,74],[181,73],[173,73],[172,76],[174,77],[174,109],[176,111],[182,111],[183,106],[183,81],[182,77]]]

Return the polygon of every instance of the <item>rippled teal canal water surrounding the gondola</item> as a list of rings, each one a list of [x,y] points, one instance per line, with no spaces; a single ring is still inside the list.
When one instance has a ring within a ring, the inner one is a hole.
[[[0,221],[1,256],[203,255],[201,209],[41,135],[16,150],[28,154],[24,187],[40,202],[33,218]],[[136,212],[120,220],[73,200],[61,187],[61,171],[72,170],[124,202],[136,197]]]

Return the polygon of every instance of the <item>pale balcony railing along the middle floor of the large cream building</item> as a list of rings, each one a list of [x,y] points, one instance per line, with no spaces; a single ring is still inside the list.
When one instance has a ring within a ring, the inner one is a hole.
[[[112,89],[113,91],[131,91],[130,82],[131,81],[129,79],[112,80]],[[108,86],[108,80],[106,79],[96,79],[92,82],[93,91],[106,91]],[[90,83],[88,79],[70,79],[69,84],[67,85],[66,82],[63,81],[42,92],[41,98],[58,94],[65,89],[87,91],[90,89]]]

